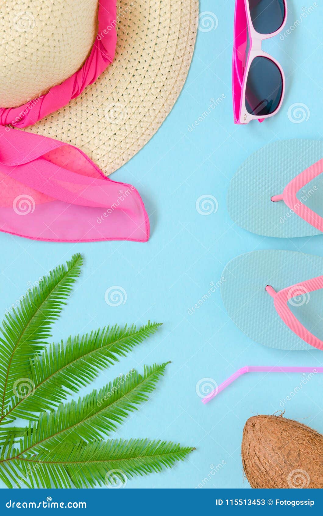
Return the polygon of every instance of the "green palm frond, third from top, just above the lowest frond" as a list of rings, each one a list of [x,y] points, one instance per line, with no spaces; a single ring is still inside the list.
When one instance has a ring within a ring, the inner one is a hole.
[[[100,440],[109,436],[129,412],[147,401],[148,394],[156,389],[167,363],[145,366],[144,374],[132,369],[120,375],[99,391],[60,405],[56,412],[43,413],[35,423],[30,423],[20,443],[19,456],[37,454],[39,449],[54,449],[64,443],[81,440]]]

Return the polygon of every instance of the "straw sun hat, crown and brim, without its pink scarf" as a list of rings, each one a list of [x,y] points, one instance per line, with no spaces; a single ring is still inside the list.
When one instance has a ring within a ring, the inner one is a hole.
[[[108,175],[158,130],[188,73],[198,0],[119,0],[98,33],[98,0],[0,5],[0,106],[22,106],[82,67],[96,39],[117,31],[113,62],[58,111],[22,130],[69,143]]]

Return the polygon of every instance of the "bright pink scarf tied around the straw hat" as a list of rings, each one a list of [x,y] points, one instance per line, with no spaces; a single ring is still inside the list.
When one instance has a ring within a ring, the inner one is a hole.
[[[98,36],[83,67],[23,106],[0,113],[0,231],[35,240],[147,241],[149,220],[139,192],[108,179],[80,149],[17,131],[76,98],[112,62],[115,0],[100,0]]]

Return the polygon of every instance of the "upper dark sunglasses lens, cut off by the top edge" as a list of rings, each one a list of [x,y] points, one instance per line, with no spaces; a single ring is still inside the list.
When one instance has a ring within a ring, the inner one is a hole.
[[[249,10],[254,30],[259,34],[272,34],[284,21],[285,2],[284,0],[249,0]]]

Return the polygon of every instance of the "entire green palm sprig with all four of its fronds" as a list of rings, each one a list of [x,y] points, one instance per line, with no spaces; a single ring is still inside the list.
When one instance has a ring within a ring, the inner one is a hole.
[[[66,269],[50,272],[0,329],[0,479],[9,488],[125,483],[133,475],[172,467],[194,449],[146,439],[102,440],[148,399],[168,362],[145,366],[143,375],[132,369],[99,391],[62,404],[160,326],[148,321],[138,330],[107,327],[45,347],[81,263],[77,254]],[[18,417],[29,425],[7,426]]]

